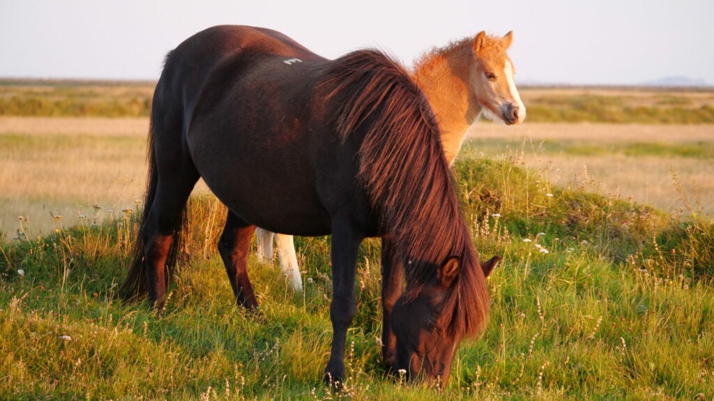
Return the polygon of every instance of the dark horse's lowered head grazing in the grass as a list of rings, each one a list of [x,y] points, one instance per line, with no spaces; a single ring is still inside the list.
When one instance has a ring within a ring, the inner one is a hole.
[[[495,256],[481,263],[483,276],[488,276],[500,260],[500,256]],[[445,384],[456,348],[463,337],[470,334],[449,327],[454,310],[453,305],[445,305],[456,290],[460,264],[458,257],[447,258],[439,266],[436,277],[426,283],[408,284],[394,305],[391,324],[397,340],[396,369],[405,370],[410,379],[421,376]],[[462,301],[466,305],[458,306],[466,308],[468,301]]]

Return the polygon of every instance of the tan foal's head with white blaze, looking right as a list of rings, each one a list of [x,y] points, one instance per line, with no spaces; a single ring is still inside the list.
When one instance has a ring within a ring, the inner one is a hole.
[[[469,81],[486,117],[506,124],[520,124],[526,118],[518,89],[513,83],[516,69],[506,50],[513,41],[513,31],[503,38],[481,31],[473,39],[473,60]]]

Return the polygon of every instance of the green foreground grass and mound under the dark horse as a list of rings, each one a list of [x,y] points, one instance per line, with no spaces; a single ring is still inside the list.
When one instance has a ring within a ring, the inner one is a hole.
[[[233,305],[215,252],[223,207],[198,198],[162,315],[116,298],[136,213],[1,245],[0,398],[714,397],[712,220],[553,188],[538,173],[468,153],[455,171],[476,247],[504,260],[489,280],[486,333],[461,345],[442,393],[381,367],[378,240],[361,248],[348,381],[332,394],[321,383],[329,238],[297,240],[303,293],[251,256],[261,314],[250,315]]]

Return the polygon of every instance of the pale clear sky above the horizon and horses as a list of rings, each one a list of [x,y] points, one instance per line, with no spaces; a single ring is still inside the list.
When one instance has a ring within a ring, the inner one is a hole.
[[[0,0],[0,78],[159,78],[168,51],[217,24],[276,29],[334,58],[423,51],[513,30],[516,81],[714,85],[714,0]]]

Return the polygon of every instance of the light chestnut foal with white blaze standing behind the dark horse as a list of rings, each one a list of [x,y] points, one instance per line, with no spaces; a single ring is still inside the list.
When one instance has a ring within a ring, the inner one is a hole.
[[[523,106],[513,83],[516,68],[506,51],[513,41],[513,31],[502,38],[479,32],[440,49],[434,49],[416,61],[412,77],[426,95],[441,130],[441,143],[448,163],[453,164],[468,128],[480,116],[508,125],[523,123]],[[292,235],[273,234],[258,228],[258,260],[273,260],[275,235],[281,271],[296,291],[303,283]]]

